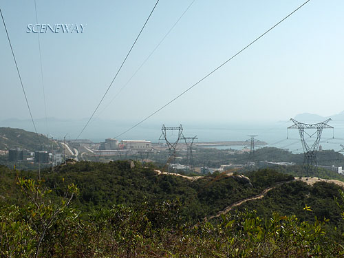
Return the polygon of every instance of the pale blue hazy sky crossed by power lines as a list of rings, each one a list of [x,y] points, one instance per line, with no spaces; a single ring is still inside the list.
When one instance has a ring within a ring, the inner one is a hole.
[[[195,0],[118,94],[191,2],[159,1],[96,119],[134,125],[304,1]],[[90,118],[154,4],[155,0],[36,0],[39,24],[85,25],[83,33],[39,34],[43,95],[38,35],[27,33],[28,24],[36,24],[34,0],[0,0],[34,119],[45,118],[44,96],[47,118]],[[288,120],[305,112],[340,113],[344,110],[343,11],[342,0],[311,0],[143,125],[253,123]],[[0,57],[0,121],[28,120],[2,23]],[[41,124],[38,131],[46,133]]]

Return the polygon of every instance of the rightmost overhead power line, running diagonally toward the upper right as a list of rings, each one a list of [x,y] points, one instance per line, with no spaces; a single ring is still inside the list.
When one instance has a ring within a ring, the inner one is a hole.
[[[275,25],[273,25],[270,29],[266,30],[266,32],[264,32],[263,34],[261,34],[260,36],[258,36],[254,41],[252,41],[251,43],[249,43],[248,45],[246,45],[246,47],[242,48],[241,50],[239,50],[239,52],[237,52],[236,54],[234,54],[233,56],[231,56],[230,58],[228,58],[224,63],[222,63],[221,65],[219,65],[218,67],[216,67],[215,69],[213,69],[211,72],[209,72],[208,74],[206,74],[206,76],[204,76],[203,78],[201,78],[200,80],[197,81],[197,83],[191,85],[191,87],[189,87],[188,89],[184,90],[184,92],[182,92],[181,94],[179,94],[178,96],[176,96],[175,98],[173,98],[172,100],[170,100],[168,103],[166,103],[165,105],[163,105],[162,107],[160,107],[158,110],[154,111],[152,114],[150,114],[149,116],[147,116],[146,118],[144,118],[143,120],[141,120],[140,122],[138,122],[136,125],[133,125],[132,127],[130,127],[129,129],[127,129],[126,131],[120,133],[118,136],[116,136],[116,138],[122,136],[123,134],[127,133],[128,131],[131,131],[132,129],[134,129],[135,127],[137,127],[138,125],[142,124],[142,122],[146,121],[147,119],[151,118],[152,116],[154,116],[155,114],[157,114],[160,110],[164,109],[165,107],[167,107],[168,105],[170,105],[171,103],[173,103],[175,100],[177,100],[178,98],[180,98],[181,96],[183,96],[184,94],[186,94],[186,92],[189,92],[189,90],[193,89],[193,87],[195,87],[196,85],[198,85],[199,83],[201,83],[203,80],[205,80],[206,78],[208,78],[209,76],[211,76],[213,73],[215,73],[218,69],[220,69],[221,67],[223,67],[224,65],[226,65],[226,63],[230,62],[233,58],[235,58],[236,56],[238,56],[239,54],[241,54],[241,52],[244,52],[248,47],[250,47],[251,45],[253,45],[254,43],[256,43],[257,41],[259,41],[259,39],[261,39],[263,36],[265,36],[266,34],[268,34],[271,30],[275,29],[279,24],[281,24],[283,21],[285,21],[286,19],[288,19],[290,16],[292,16],[292,14],[294,14],[295,12],[297,12],[299,9],[301,9],[303,6],[305,6],[306,3],[308,3],[310,0],[305,1],[305,3],[303,3],[301,6],[299,6],[297,9],[295,9],[294,11],[290,12],[290,14],[288,14],[286,17],[284,17],[283,19],[281,19],[281,21],[279,21],[278,23],[276,23]]]

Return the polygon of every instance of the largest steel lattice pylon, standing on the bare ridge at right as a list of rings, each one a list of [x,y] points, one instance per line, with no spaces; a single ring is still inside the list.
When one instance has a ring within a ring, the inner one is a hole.
[[[303,148],[303,168],[305,169],[306,176],[313,176],[314,171],[318,171],[318,163],[316,162],[316,153],[319,148],[319,142],[321,138],[321,133],[323,133],[323,129],[334,129],[334,127],[327,125],[328,122],[330,122],[331,118],[328,118],[327,120],[323,122],[319,122],[317,124],[305,124],[303,122],[298,122],[297,120],[290,119],[290,121],[294,122],[294,125],[287,128],[288,129],[299,129],[302,148]],[[316,129],[316,131],[312,134],[307,133],[306,129]],[[312,144],[312,146],[309,146],[307,142],[305,142],[305,134],[310,136],[314,136],[316,134],[316,140]],[[287,136],[288,138],[288,136]]]

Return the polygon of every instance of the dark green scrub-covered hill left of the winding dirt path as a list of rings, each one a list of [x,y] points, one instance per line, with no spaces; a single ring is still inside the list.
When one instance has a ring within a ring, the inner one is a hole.
[[[277,182],[294,180],[291,175],[269,169],[252,174],[252,180],[226,174],[188,180],[175,175],[158,175],[153,164],[134,164],[131,168],[128,161],[108,164],[77,162],[58,166],[54,173],[50,169],[43,170],[41,176],[45,185],[57,194],[64,184],[76,184],[80,194],[74,200],[74,205],[85,212],[114,204],[140,204],[143,200],[174,200],[182,204],[182,215],[192,219],[214,215],[229,204],[257,195]],[[7,177],[11,175],[8,172],[2,176],[6,174]],[[37,178],[38,175],[36,171],[21,171],[19,174],[26,178]],[[1,181],[6,182],[6,179]],[[4,186],[4,189],[6,187],[10,189],[10,186]],[[0,193],[3,194],[6,192]]]

